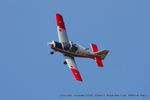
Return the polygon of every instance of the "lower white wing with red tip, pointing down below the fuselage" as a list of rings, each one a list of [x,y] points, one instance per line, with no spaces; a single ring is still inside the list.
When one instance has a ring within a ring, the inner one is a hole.
[[[82,78],[80,76],[79,70],[78,70],[77,65],[75,63],[74,57],[67,56],[67,55],[64,55],[64,56],[65,56],[66,62],[68,64],[74,78],[78,81],[82,81]]]

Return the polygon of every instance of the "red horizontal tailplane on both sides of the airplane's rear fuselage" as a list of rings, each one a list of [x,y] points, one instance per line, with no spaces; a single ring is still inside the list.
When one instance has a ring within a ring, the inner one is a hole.
[[[91,48],[92,48],[93,53],[98,52],[97,45],[91,43]],[[94,57],[94,59],[96,60],[97,66],[103,67],[103,63],[102,63],[102,60],[101,60],[100,57],[97,57],[97,56],[96,56],[96,57]]]

